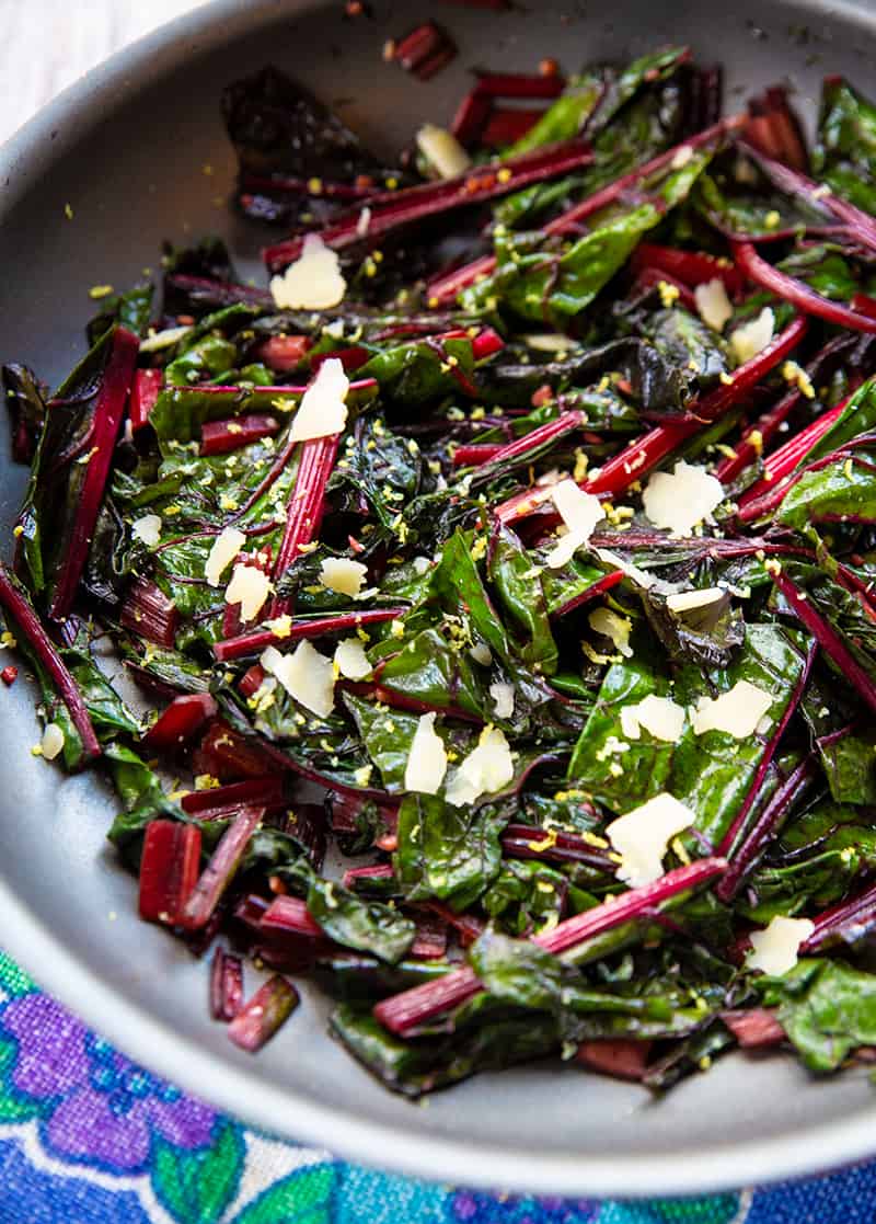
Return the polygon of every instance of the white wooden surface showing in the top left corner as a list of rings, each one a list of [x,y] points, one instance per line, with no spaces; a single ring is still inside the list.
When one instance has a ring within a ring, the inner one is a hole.
[[[197,0],[0,0],[0,144],[113,51],[197,7]]]

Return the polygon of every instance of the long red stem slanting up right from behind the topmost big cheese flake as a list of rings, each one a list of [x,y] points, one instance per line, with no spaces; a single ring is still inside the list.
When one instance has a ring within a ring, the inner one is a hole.
[[[420,184],[403,191],[384,192],[368,202],[371,220],[368,240],[376,241],[412,222],[423,220],[436,213],[465,204],[482,203],[510,191],[518,191],[533,182],[542,182],[568,174],[592,160],[592,153],[584,141],[566,141],[551,144],[520,157],[478,165],[465,174],[440,182]],[[341,217],[333,225],[319,231],[327,246],[334,250],[361,242],[358,233],[360,209]],[[264,251],[264,259],[272,272],[281,271],[297,259],[303,245],[302,237],[291,237]]]

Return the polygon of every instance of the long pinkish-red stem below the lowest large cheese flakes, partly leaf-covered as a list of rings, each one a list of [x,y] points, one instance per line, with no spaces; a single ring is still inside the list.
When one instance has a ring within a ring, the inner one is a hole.
[[[611,897],[609,901],[586,909],[559,923],[552,931],[537,935],[535,944],[548,952],[568,952],[587,939],[629,922],[642,911],[669,900],[686,889],[696,887],[721,874],[727,863],[722,858],[703,858],[686,867],[675,868],[653,884]],[[437,982],[428,982],[384,999],[374,1007],[374,1016],[390,1032],[404,1037],[432,1016],[458,1007],[478,994],[481,983],[472,968],[454,969]]]

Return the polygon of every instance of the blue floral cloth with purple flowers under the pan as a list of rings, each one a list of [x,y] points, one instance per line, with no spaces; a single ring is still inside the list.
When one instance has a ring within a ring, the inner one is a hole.
[[[412,1181],[253,1131],[135,1066],[0,952],[0,1224],[855,1224],[876,1164],[648,1203]]]

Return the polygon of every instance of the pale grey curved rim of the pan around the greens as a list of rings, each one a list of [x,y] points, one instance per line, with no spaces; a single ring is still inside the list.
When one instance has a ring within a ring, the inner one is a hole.
[[[89,132],[105,105],[117,105],[138,93],[179,67],[190,54],[204,54],[228,43],[235,33],[250,34],[285,12],[301,13],[324,2],[248,0],[241,6],[239,0],[213,0],[115,51],[59,93],[0,147],[0,220],[65,149]],[[870,2],[833,0],[831,13],[875,23],[876,11],[869,9]],[[803,4],[823,16],[821,0]],[[328,1108],[290,1088],[259,1082],[253,1091],[243,1065],[207,1053],[193,1038],[174,1031],[95,972],[16,894],[1,867],[0,929],[4,947],[33,972],[40,987],[136,1061],[192,1094],[206,1097],[232,1118],[372,1168],[428,1180],[436,1180],[439,1170],[442,1181],[453,1179],[459,1185],[493,1190],[644,1198],[739,1190],[811,1175],[816,1168],[837,1168],[876,1152],[876,1111],[866,1109],[847,1121],[815,1125],[805,1135],[679,1149],[670,1160],[664,1154],[586,1152],[542,1154],[532,1160],[524,1148],[416,1135],[401,1125],[356,1116],[355,1108]]]

